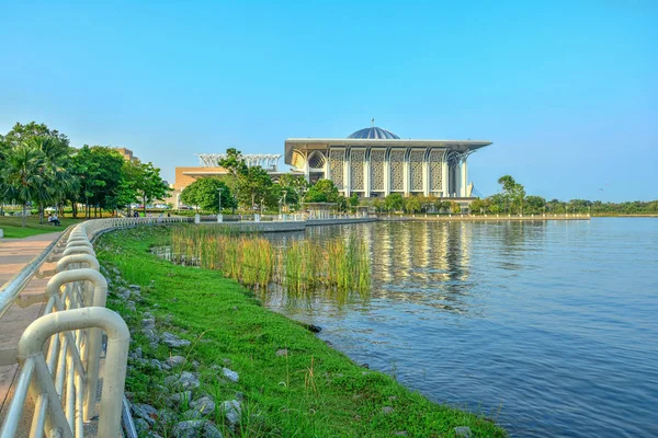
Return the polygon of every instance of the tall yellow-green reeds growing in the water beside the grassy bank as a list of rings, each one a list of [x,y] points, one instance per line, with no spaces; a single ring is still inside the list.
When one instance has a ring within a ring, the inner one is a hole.
[[[353,237],[275,247],[259,234],[180,227],[171,232],[171,254],[175,263],[220,270],[250,287],[280,284],[295,295],[318,288],[364,291],[371,286],[370,249]]]

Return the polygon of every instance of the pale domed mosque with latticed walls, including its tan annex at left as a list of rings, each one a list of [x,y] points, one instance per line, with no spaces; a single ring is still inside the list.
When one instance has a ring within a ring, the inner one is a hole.
[[[384,197],[436,196],[467,205],[473,199],[468,182],[468,157],[491,145],[487,140],[402,139],[389,130],[373,126],[347,138],[288,138],[284,162],[291,172],[307,181],[332,180],[343,196]],[[175,168],[173,194],[179,205],[180,192],[198,177],[226,175],[218,165],[224,154],[198,154],[200,166]],[[261,165],[274,180],[280,154],[245,154],[248,165]]]

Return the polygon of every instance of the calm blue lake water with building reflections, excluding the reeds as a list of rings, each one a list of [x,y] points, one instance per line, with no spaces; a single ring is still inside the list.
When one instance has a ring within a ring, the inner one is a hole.
[[[310,229],[371,242],[370,298],[265,302],[517,437],[658,436],[658,219]],[[276,237],[274,239],[304,238]]]

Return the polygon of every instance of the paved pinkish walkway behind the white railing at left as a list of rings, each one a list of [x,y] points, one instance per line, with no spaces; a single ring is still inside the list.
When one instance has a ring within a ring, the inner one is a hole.
[[[2,239],[0,242],[0,287],[41,254],[61,232],[32,235],[24,239]],[[45,263],[42,270],[54,269],[55,263]],[[49,277],[34,277],[16,302],[0,318],[0,351],[18,346],[21,334],[42,312],[44,290]],[[16,377],[18,364],[0,365],[0,420],[10,389]]]

